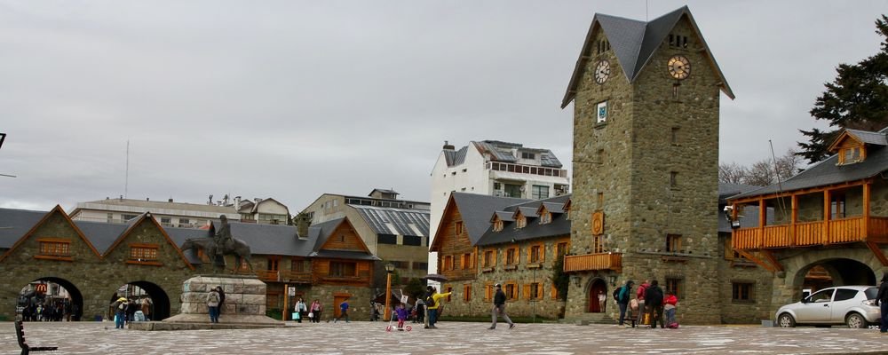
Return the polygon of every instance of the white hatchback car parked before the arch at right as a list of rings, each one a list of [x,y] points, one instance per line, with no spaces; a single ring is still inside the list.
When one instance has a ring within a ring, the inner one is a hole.
[[[881,312],[876,305],[875,286],[839,286],[823,288],[806,296],[801,302],[787,304],[777,310],[778,327],[799,325],[836,325],[867,327],[879,323]]]

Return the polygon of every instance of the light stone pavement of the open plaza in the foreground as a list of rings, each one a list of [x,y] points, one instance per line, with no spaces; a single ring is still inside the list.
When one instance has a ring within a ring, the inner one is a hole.
[[[222,319],[224,322],[225,320]],[[847,327],[682,326],[633,329],[608,325],[440,322],[439,329],[385,331],[353,321],[250,330],[139,331],[113,322],[28,322],[41,354],[888,354],[888,335]],[[413,326],[412,324],[410,324]],[[503,327],[505,326],[505,327]],[[12,322],[0,322],[0,354],[18,354]]]

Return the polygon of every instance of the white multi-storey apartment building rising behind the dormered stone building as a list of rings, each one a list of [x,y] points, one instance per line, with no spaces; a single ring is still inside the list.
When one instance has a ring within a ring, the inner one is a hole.
[[[549,149],[482,140],[456,150],[444,142],[432,170],[432,231],[455,191],[535,200],[569,193],[561,166]]]

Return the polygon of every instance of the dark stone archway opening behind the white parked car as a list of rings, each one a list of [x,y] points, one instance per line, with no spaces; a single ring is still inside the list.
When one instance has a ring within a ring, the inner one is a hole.
[[[800,298],[804,291],[816,292],[834,286],[876,285],[876,272],[856,260],[832,258],[805,266],[794,281],[799,286],[796,298]]]

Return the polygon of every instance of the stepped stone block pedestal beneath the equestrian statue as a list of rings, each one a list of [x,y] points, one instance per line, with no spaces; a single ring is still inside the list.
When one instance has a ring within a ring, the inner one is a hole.
[[[218,323],[210,323],[207,295],[210,288],[225,291]],[[160,322],[132,322],[142,330],[232,329],[284,327],[284,322],[266,316],[266,283],[255,276],[198,275],[182,283],[182,309]]]

